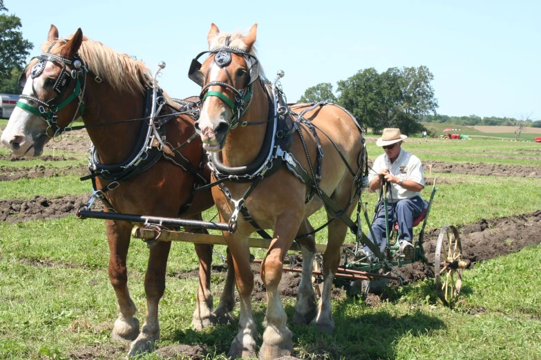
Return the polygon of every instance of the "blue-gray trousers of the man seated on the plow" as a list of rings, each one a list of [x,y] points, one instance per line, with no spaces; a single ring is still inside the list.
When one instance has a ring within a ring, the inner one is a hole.
[[[413,219],[418,217],[424,209],[424,202],[421,197],[412,197],[411,199],[399,200],[395,203],[390,203],[387,206],[389,214],[389,234],[392,232],[393,226],[395,226],[395,212],[396,219],[398,221],[398,239],[401,243],[402,241],[412,242],[413,240]],[[379,206],[379,211],[377,213],[374,223],[372,223],[372,230],[374,231],[374,236],[376,241],[372,239],[372,234],[369,232],[368,239],[379,246],[381,250],[385,249],[387,246],[386,237],[385,237],[385,209],[383,203]],[[364,250],[366,252],[371,252],[370,249],[365,246]]]

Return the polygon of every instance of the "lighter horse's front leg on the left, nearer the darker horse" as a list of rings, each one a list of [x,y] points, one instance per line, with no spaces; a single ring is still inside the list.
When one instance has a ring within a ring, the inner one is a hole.
[[[251,310],[251,292],[254,290],[254,273],[250,266],[250,249],[248,237],[235,232],[223,232],[235,269],[235,280],[240,303],[240,316],[238,319],[238,333],[236,334],[228,357],[236,359],[241,357],[255,357],[257,352],[256,338],[258,332],[254,315]]]

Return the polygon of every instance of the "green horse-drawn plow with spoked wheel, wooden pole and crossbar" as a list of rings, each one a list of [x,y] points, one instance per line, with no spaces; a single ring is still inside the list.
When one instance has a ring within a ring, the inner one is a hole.
[[[433,260],[428,260],[424,251],[424,230],[436,190],[437,188],[434,183],[430,201],[426,203],[426,208],[421,216],[414,221],[415,226],[419,225],[422,221],[422,226],[417,241],[415,241],[415,253],[411,260],[405,260],[404,255],[401,255],[398,252],[399,245],[396,241],[396,228],[392,229],[392,231],[388,231],[388,243],[383,252],[381,252],[377,246],[374,246],[371,241],[366,239],[366,237],[361,237],[361,239],[364,239],[366,242],[357,242],[354,249],[348,246],[342,247],[343,263],[341,263],[336,274],[334,274],[334,285],[344,288],[350,296],[361,295],[365,297],[368,292],[381,292],[390,281],[404,283],[404,278],[401,277],[401,274],[395,268],[421,261],[434,267],[437,293],[442,302],[446,305],[450,305],[456,301],[457,296],[462,290],[462,272],[469,266],[469,261],[464,260],[465,257],[462,253],[462,243],[457,228],[451,225],[442,228],[437,240]],[[385,206],[385,199],[380,200],[383,201]],[[370,231],[372,231],[366,206],[361,204],[361,208]],[[143,226],[136,226],[133,228],[131,236],[146,242],[149,247],[153,246],[157,241],[180,241],[227,246],[227,242],[222,235],[169,230],[168,227],[202,228],[206,230],[222,230],[227,232],[236,231],[236,227],[231,226],[231,223],[150,217],[132,214],[114,214],[92,210],[79,210],[77,212],[77,217],[80,219],[93,218],[143,223]],[[395,241],[393,241],[393,239]],[[269,239],[250,237],[248,241],[250,248],[268,249],[270,246]],[[366,261],[367,259],[359,259],[357,256],[358,250],[362,248],[363,244],[368,246],[375,256],[374,259],[370,259],[368,262]],[[316,244],[316,253],[323,254],[325,253],[326,248],[327,246],[325,244]],[[301,251],[301,246],[294,241],[288,251],[299,252]],[[262,263],[263,259],[252,259],[252,262]],[[301,268],[294,267],[292,261],[290,262],[286,259],[285,263],[289,263],[290,266],[284,266],[284,271],[302,272]],[[314,260],[314,270],[312,271],[312,275],[314,288],[316,293],[320,296],[321,292],[318,284],[321,283],[323,277],[321,268],[322,261],[321,256],[319,256]]]

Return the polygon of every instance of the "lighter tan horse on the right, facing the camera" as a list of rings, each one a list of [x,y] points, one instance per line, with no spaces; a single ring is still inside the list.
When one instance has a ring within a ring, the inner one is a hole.
[[[203,148],[209,152],[221,152],[224,166],[238,168],[247,166],[258,157],[264,143],[265,126],[269,117],[269,101],[263,88],[263,80],[254,80],[256,57],[254,43],[256,41],[254,25],[247,36],[235,33],[222,33],[212,24],[208,34],[209,57],[200,66],[200,73],[190,72],[192,79],[200,79],[204,84],[202,99],[204,99],[200,118],[196,121],[196,129],[203,141]],[[222,50],[219,50],[222,49]],[[223,51],[225,49],[225,51]],[[229,53],[231,59],[224,52]],[[249,55],[247,55],[249,54]],[[197,67],[196,67],[197,68]],[[261,75],[260,75],[261,78]],[[245,101],[238,108],[241,95],[246,99],[247,92],[253,92],[251,102]],[[222,94],[219,95],[218,93]],[[229,101],[223,99],[227,97]],[[233,107],[228,103],[236,104]],[[307,106],[296,106],[296,109],[307,109]],[[234,120],[245,110],[241,121]],[[308,111],[304,117],[310,119],[319,129],[336,143],[345,161],[354,173],[359,172],[357,157],[363,151],[363,135],[357,123],[345,110],[337,106],[319,106]],[[237,121],[239,126],[231,128],[231,121]],[[254,126],[251,126],[254,125]],[[352,189],[357,188],[354,175],[348,170],[332,141],[317,130],[321,146],[325,154],[319,187],[323,192],[340,206],[346,209],[350,217],[352,209]],[[290,154],[297,159],[303,168],[310,169],[305,150],[309,153],[310,162],[316,163],[316,139],[311,130],[304,124],[298,125],[306,147],[298,132],[293,135]],[[310,170],[308,170],[310,174]],[[313,178],[312,178],[313,179]],[[228,181],[225,183],[232,199],[243,198],[251,183]],[[282,277],[283,261],[287,249],[290,248],[296,234],[307,234],[312,226],[307,218],[323,206],[318,196],[310,198],[311,189],[299,181],[285,166],[265,177],[245,199],[245,207],[249,215],[263,229],[273,229],[273,239],[270,242],[267,255],[261,264],[261,279],[267,288],[266,329],[263,334],[263,346],[260,349],[260,359],[274,359],[290,354],[292,351],[292,333],[287,328],[287,316],[283,309],[278,293],[278,283]],[[234,203],[229,201],[224,188],[213,188],[214,201],[220,212],[221,221],[229,221],[234,214]],[[355,197],[357,198],[357,196]],[[305,203],[305,200],[308,200]],[[349,205],[349,206],[348,206]],[[312,323],[319,330],[332,332],[334,321],[331,309],[331,290],[334,274],[339,266],[340,249],[348,228],[341,220],[330,223],[329,239],[325,254],[323,254],[324,286],[319,305],[316,307],[314,289],[312,288],[312,261],[314,259],[314,237],[312,235],[298,239],[303,252],[303,276],[298,289],[298,299],[295,306],[295,323]],[[224,232],[225,240],[233,255],[236,286],[240,297],[240,320],[229,355],[231,357],[247,357],[256,354],[256,339],[258,337],[256,324],[251,311],[251,292],[254,288],[254,276],[250,270],[248,237],[254,232],[254,227],[238,216],[238,230],[233,234]]]

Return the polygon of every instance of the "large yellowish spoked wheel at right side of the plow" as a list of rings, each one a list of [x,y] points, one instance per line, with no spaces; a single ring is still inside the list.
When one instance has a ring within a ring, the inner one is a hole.
[[[444,226],[436,245],[434,271],[437,294],[446,305],[456,301],[462,288],[462,272],[467,263],[462,259],[462,243],[457,228]]]

